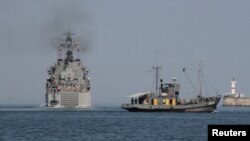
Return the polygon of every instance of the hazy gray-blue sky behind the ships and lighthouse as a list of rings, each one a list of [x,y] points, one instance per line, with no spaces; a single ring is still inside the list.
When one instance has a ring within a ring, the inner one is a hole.
[[[0,104],[45,103],[55,41],[69,24],[85,49],[94,105],[154,91],[157,65],[164,82],[177,78],[183,97],[182,68],[199,64],[209,94],[230,92],[234,77],[236,91],[250,97],[249,13],[248,0],[1,0]]]

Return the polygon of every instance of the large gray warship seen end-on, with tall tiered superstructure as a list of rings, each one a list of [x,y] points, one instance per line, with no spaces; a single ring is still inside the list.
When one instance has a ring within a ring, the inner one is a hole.
[[[64,35],[66,38],[58,45],[57,62],[48,68],[46,107],[91,107],[88,70],[80,58],[76,57],[79,56],[80,44],[73,40],[72,32],[64,33]]]

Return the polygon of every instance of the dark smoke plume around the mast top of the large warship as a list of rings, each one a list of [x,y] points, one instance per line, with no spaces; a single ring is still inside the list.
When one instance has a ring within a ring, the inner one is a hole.
[[[43,42],[49,42],[50,48],[57,49],[58,44],[65,39],[63,33],[70,31],[75,34],[72,38],[80,42],[81,52],[86,52],[91,48],[93,41],[90,21],[90,16],[84,8],[77,4],[57,7],[51,10],[42,28],[41,39]]]

